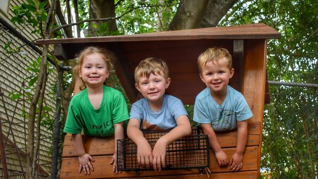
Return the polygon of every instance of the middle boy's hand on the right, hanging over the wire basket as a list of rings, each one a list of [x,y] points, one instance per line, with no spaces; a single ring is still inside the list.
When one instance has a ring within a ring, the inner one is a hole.
[[[152,165],[155,171],[157,171],[157,169],[161,171],[161,164],[162,167],[165,167],[164,159],[166,157],[166,148],[167,144],[162,140],[162,138],[159,138],[159,140],[156,142],[154,150],[152,151],[152,155],[154,156]]]

